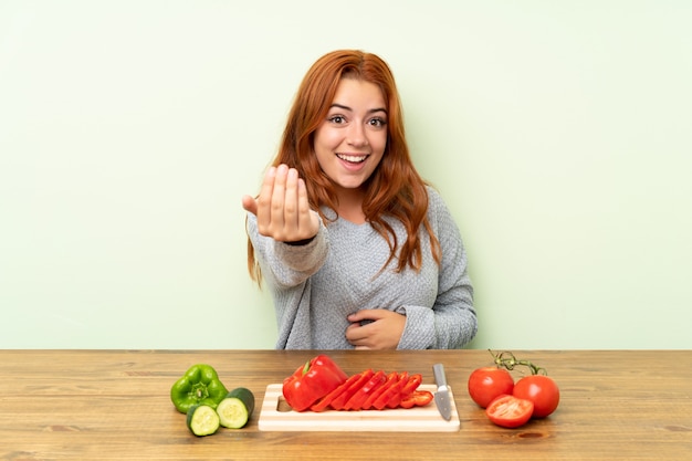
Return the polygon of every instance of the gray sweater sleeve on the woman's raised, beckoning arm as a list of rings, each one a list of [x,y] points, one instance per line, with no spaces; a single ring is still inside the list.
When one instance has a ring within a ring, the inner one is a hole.
[[[315,238],[301,245],[261,235],[258,231],[256,217],[252,213],[248,213],[247,226],[262,275],[277,287],[292,287],[304,283],[327,259],[329,241],[322,220]]]

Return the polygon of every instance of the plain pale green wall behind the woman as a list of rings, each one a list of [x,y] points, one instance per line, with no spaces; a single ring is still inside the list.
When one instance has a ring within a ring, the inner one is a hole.
[[[690,348],[692,2],[0,3],[0,347],[271,348],[245,269],[304,72],[391,65],[476,348]]]

